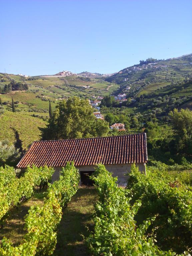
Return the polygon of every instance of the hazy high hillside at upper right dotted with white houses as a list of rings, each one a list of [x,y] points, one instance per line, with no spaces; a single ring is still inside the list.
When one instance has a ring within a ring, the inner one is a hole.
[[[140,61],[140,64],[124,68],[106,78],[106,81],[120,85],[116,94],[126,92],[128,96],[134,97],[192,78],[192,54],[167,60],[152,60],[154,61]],[[130,89],[127,89],[129,86]]]

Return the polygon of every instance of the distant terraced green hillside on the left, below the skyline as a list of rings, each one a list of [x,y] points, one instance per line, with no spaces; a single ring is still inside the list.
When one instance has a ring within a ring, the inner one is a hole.
[[[27,83],[27,91],[3,92],[3,87],[11,81]],[[57,102],[70,96],[81,98],[96,98],[110,95],[119,85],[102,78],[90,79],[80,76],[36,76],[25,78],[19,75],[0,74],[0,97],[8,110],[11,108],[11,97],[16,102],[16,110],[28,115],[48,117],[49,100],[54,109]]]

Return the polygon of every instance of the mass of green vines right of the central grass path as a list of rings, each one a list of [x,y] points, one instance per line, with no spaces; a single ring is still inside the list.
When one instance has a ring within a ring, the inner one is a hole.
[[[93,255],[191,255],[186,250],[191,246],[190,187],[173,181],[161,171],[148,171],[145,176],[135,166],[127,189],[118,187],[117,179],[103,165],[97,167],[93,180],[99,195],[94,232],[87,238]],[[156,222],[158,226],[154,225]],[[175,231],[179,238],[174,235]],[[159,237],[158,232],[163,237]],[[156,240],[158,238],[161,241]],[[172,245],[174,239],[179,241]],[[163,244],[162,240],[168,243],[166,251],[158,247]],[[172,247],[179,254],[173,252]]]

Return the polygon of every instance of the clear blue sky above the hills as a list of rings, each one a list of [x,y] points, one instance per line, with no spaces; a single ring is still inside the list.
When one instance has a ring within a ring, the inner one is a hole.
[[[191,0],[0,0],[0,72],[114,73],[192,53]]]

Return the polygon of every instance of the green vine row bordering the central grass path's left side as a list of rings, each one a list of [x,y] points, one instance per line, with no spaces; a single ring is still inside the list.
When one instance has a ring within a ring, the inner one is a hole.
[[[25,217],[26,230],[21,244],[13,247],[4,238],[0,254],[7,256],[52,255],[57,242],[56,228],[62,217],[62,207],[66,206],[76,193],[79,173],[72,163],[63,168],[59,181],[49,185],[47,198],[42,207],[32,206]]]

